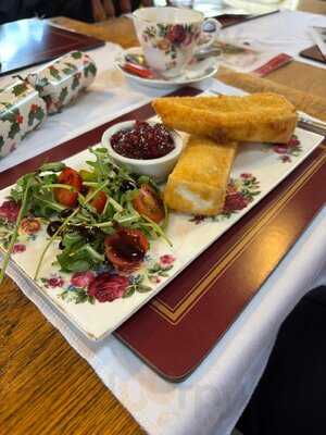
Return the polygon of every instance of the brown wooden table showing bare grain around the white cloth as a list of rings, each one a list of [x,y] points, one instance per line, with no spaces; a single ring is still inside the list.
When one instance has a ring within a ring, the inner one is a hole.
[[[326,4],[322,5],[326,12]],[[124,41],[125,47],[136,44],[128,18],[114,18],[110,25],[88,25],[67,18],[55,22],[79,32],[93,32],[96,36],[101,34],[103,39]],[[269,78],[288,84],[293,67],[297,74],[291,85],[318,95],[323,86],[318,69],[296,62],[272,73]],[[302,78],[306,69],[311,77],[308,84]],[[143,433],[89,365],[9,278],[0,288],[0,427],[4,434]]]

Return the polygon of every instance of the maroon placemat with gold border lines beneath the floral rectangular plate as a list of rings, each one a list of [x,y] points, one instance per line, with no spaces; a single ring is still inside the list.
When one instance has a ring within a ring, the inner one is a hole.
[[[174,95],[195,96],[193,88]],[[153,115],[150,104],[0,174],[0,188],[45,161],[98,144],[111,125]],[[324,142],[325,144],[325,142]],[[325,203],[326,145],[249,211],[115,335],[165,378],[189,375],[230,327]],[[110,364],[110,361],[108,361]]]

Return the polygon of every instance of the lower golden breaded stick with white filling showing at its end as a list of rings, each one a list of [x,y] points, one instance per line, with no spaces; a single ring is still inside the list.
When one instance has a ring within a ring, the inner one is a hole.
[[[237,144],[217,144],[190,136],[164,189],[164,201],[176,211],[213,215],[223,210]]]

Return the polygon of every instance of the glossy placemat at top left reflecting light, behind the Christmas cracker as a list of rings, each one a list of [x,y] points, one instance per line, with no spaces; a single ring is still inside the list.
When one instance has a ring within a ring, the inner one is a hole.
[[[49,25],[37,18],[0,25],[0,76],[51,61],[72,50],[89,50],[103,41]],[[8,47],[8,50],[3,48]]]

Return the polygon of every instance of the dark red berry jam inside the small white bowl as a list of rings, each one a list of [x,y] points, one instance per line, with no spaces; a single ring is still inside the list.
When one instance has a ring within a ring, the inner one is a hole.
[[[150,160],[168,154],[175,145],[163,124],[136,121],[135,127],[122,129],[111,137],[115,152],[129,159]]]

